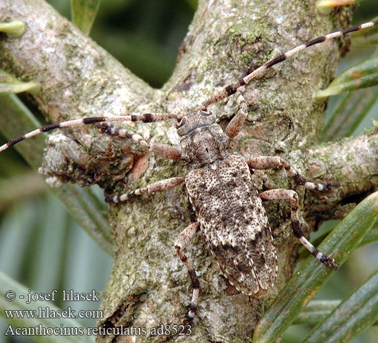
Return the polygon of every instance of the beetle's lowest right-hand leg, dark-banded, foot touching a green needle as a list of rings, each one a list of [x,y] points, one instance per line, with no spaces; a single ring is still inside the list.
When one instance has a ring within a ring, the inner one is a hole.
[[[271,189],[260,193],[260,198],[263,201],[272,202],[289,202],[291,204],[291,228],[293,229],[294,235],[299,239],[300,243],[311,252],[320,262],[337,269],[338,265],[335,260],[327,255],[320,252],[315,246],[313,246],[306,238],[303,236],[302,228],[300,227],[298,218],[298,194],[295,191],[288,189]]]

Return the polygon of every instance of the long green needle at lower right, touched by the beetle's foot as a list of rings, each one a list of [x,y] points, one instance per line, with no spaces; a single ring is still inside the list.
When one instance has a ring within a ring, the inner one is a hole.
[[[331,254],[335,260],[342,265],[353,250],[359,246],[369,230],[375,226],[377,220],[378,192],[371,194],[368,198],[359,203],[355,209],[335,227],[322,242],[319,249],[325,254]],[[319,263],[318,260],[309,257],[298,272],[296,272],[291,281],[282,289],[276,300],[274,300],[274,303],[269,307],[265,316],[258,323],[253,342],[275,342],[297,318],[301,309],[309,303],[334,273],[335,271],[331,268],[324,268],[324,265]],[[370,292],[370,289],[366,289],[366,292]],[[356,292],[360,291],[357,290]],[[366,297],[368,296],[367,294]],[[347,304],[350,304],[350,302],[347,302]],[[344,316],[348,316],[349,311],[353,311],[353,306],[348,307],[348,305],[344,304],[342,307]],[[376,307],[377,304],[373,303],[372,307],[366,309],[366,312],[370,310],[370,317],[375,316],[376,312],[373,310]],[[372,319],[369,323],[373,324],[375,320]],[[335,326],[333,329],[337,329],[337,327]]]

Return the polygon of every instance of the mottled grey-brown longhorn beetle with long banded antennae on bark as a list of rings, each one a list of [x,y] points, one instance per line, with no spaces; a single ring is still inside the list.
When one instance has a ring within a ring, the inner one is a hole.
[[[187,314],[187,320],[194,318],[199,298],[199,280],[192,264],[184,254],[194,235],[201,230],[216,261],[232,285],[243,294],[260,296],[265,294],[276,281],[278,262],[274,248],[273,237],[263,201],[289,202],[291,204],[291,226],[294,235],[312,255],[325,265],[337,269],[338,265],[329,256],[318,251],[303,237],[302,228],[298,220],[298,195],[295,191],[273,189],[258,193],[252,182],[249,167],[252,169],[272,169],[283,167],[297,185],[316,191],[329,191],[336,187],[337,182],[313,183],[300,176],[289,163],[277,156],[257,156],[245,159],[240,154],[234,154],[228,146],[243,128],[247,117],[247,104],[241,93],[241,87],[247,85],[265,70],[283,62],[318,43],[331,38],[337,38],[378,25],[378,21],[364,23],[348,29],[326,34],[294,47],[276,58],[258,67],[236,84],[226,86],[222,91],[211,97],[197,110],[187,114],[144,114],[112,117],[88,117],[52,123],[21,137],[12,139],[0,147],[0,152],[8,147],[56,128],[92,124],[100,132],[119,137],[128,137],[140,143],[151,152],[170,159],[180,159],[188,163],[188,173],[185,177],[168,178],[153,182],[146,187],[129,191],[122,195],[108,196],[107,202],[124,202],[143,193],[166,191],[183,182],[189,193],[189,199],[197,215],[198,222],[190,224],[179,235],[175,242],[175,249],[179,258],[188,270],[192,283],[192,300]],[[216,116],[208,110],[208,106],[238,93],[239,112],[228,123],[223,131],[216,123]],[[162,144],[148,144],[138,134],[113,128],[110,121],[143,121],[151,123],[168,119],[177,120],[177,133],[181,137],[181,150],[177,147]]]

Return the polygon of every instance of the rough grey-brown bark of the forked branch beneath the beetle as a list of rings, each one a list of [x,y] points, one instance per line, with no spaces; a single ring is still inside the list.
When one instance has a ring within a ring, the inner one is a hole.
[[[80,34],[42,0],[0,0],[0,20],[25,21],[20,38],[1,38],[1,64],[24,80],[37,81],[34,97],[52,121],[122,113],[190,113],[221,86],[240,78],[252,63],[331,32],[341,15],[320,16],[315,1],[199,1],[170,80],[155,90],[124,69],[106,51]],[[343,18],[347,18],[344,12]],[[301,213],[314,230],[322,220],[342,217],[377,186],[377,135],[373,132],[338,143],[317,146],[324,103],[313,94],[329,83],[338,59],[338,42],[304,51],[269,70],[245,88],[251,104],[243,133],[232,149],[250,154],[279,155],[302,174],[316,180],[338,180],[340,187],[320,197],[296,189]],[[237,110],[234,97],[211,106],[221,122]],[[177,144],[171,121],[135,123],[151,142]],[[71,180],[98,183],[107,192],[127,183],[131,189],[170,176],[182,176],[183,162],[146,154],[131,141],[104,137],[91,128],[65,131],[65,143],[50,139],[43,173],[53,183]],[[57,136],[57,135],[55,135]],[[58,142],[58,143],[56,143]],[[355,147],[359,149],[356,150]],[[285,172],[256,172],[260,189],[288,188]],[[201,235],[188,256],[200,277],[198,316],[185,342],[246,342],[264,309],[290,278],[296,261],[296,239],[291,234],[287,206],[267,206],[279,255],[279,276],[263,298],[227,296],[227,281],[212,259]],[[190,301],[186,269],[173,244],[194,220],[183,187],[109,206],[114,237],[114,264],[100,324],[158,327],[180,324]],[[112,338],[99,337],[98,341]],[[117,342],[128,342],[127,336]],[[129,338],[130,339],[130,338]],[[137,342],[165,342],[163,336],[136,336]]]

